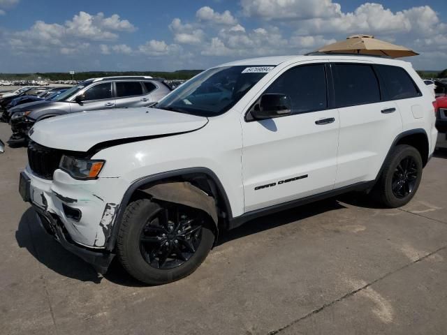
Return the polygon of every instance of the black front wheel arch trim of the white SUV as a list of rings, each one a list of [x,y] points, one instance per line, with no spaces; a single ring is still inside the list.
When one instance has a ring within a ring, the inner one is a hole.
[[[119,225],[121,224],[127,205],[134,199],[147,196],[145,190],[157,184],[166,184],[173,181],[190,181],[191,184],[200,188],[200,190],[205,191],[205,193],[210,193],[210,196],[216,201],[217,215],[219,217],[219,225],[216,225],[216,233],[219,232],[219,227],[223,226],[226,228],[226,226],[228,226],[228,221],[230,218],[233,218],[230,202],[221,181],[212,170],[199,167],[161,172],[141,177],[140,179],[133,181],[131,186],[129,186],[124,193],[122,201],[118,206],[117,213],[115,214],[112,230],[106,244],[106,249],[108,251],[112,251],[115,248]]]

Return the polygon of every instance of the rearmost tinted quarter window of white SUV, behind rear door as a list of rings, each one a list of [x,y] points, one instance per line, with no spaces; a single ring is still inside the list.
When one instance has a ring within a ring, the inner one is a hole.
[[[420,91],[406,70],[398,66],[377,65],[385,82],[386,100],[399,100],[420,96]]]

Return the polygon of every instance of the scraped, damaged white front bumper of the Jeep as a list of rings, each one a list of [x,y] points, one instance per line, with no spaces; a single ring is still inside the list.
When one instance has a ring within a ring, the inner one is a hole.
[[[20,174],[20,194],[36,209],[45,230],[100,273],[114,257],[106,246],[121,200],[114,199],[119,194],[114,191],[121,184],[120,178],[79,181],[62,170],[47,180],[29,166]]]

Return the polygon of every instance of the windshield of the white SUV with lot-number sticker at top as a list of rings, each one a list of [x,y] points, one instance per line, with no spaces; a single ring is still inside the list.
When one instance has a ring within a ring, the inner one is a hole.
[[[153,107],[214,117],[229,110],[274,66],[211,68],[185,82]]]

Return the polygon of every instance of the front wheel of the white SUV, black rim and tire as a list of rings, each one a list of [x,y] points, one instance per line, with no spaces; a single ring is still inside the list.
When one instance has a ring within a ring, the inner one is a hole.
[[[212,220],[198,209],[140,199],[124,212],[117,255],[124,269],[149,285],[184,278],[205,260],[214,244]]]

